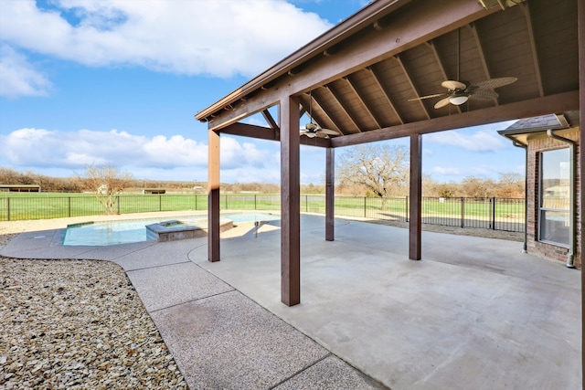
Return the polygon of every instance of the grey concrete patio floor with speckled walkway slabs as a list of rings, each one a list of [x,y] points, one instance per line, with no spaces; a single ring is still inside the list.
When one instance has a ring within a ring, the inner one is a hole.
[[[277,225],[222,239],[216,263],[206,238],[63,247],[62,230],[0,254],[120,264],[192,388],[581,388],[579,270],[431,232],[412,261],[408,230],[337,219],[328,242],[324,218],[303,216],[289,308]]]

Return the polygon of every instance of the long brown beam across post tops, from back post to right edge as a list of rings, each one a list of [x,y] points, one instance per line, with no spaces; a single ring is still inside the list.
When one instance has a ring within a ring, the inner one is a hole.
[[[331,146],[337,148],[360,143],[386,141],[408,137],[416,133],[442,132],[445,130],[494,123],[496,121],[511,121],[520,118],[547,115],[551,112],[572,110],[579,110],[578,90],[545,96],[543,98],[518,101],[503,106],[489,107],[483,110],[463,112],[457,115],[433,118],[426,121],[415,121],[384,129],[372,130],[370,132],[332,138]]]

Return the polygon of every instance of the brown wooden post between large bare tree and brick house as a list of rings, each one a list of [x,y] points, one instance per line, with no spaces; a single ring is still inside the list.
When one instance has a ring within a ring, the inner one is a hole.
[[[409,258],[420,260],[420,226],[422,206],[422,136],[410,135],[410,221]]]

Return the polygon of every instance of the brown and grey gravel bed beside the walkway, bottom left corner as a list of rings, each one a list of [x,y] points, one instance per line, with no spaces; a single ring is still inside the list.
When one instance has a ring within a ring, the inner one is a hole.
[[[1,389],[187,388],[132,283],[108,261],[0,257],[0,328]]]

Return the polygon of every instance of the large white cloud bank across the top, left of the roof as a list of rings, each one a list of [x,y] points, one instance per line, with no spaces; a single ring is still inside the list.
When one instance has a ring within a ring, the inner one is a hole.
[[[3,0],[0,37],[88,66],[254,76],[331,25],[283,0]]]

